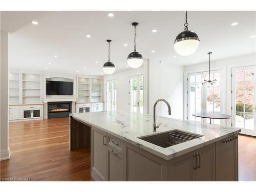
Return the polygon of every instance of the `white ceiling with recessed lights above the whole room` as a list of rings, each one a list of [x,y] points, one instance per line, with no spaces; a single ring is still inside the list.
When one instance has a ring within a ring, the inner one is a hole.
[[[17,69],[102,75],[111,42],[111,61],[116,72],[128,69],[126,58],[133,51],[134,28],[138,22],[137,51],[150,65],[193,65],[212,60],[255,53],[256,12],[188,11],[189,30],[200,38],[199,49],[179,56],[173,48],[183,30],[184,11],[4,11],[1,29],[10,32],[9,66]],[[31,24],[36,20],[39,25]],[[230,26],[238,21],[237,26]],[[152,33],[152,29],[157,29]],[[92,37],[87,38],[86,34]],[[123,44],[128,44],[124,47]],[[155,50],[155,53],[151,51]],[[57,55],[57,58],[53,56]],[[174,57],[174,56],[177,57]],[[96,64],[95,61],[98,61]],[[51,62],[51,65],[48,63]],[[84,69],[83,67],[87,67]]]

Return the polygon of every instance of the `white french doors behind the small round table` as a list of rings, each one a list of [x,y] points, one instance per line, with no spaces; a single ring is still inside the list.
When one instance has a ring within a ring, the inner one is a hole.
[[[209,123],[209,119],[194,117],[192,114],[223,112],[222,71],[211,71],[210,79],[217,79],[213,85],[210,83],[202,84],[204,79],[209,79],[208,72],[190,73],[187,75],[187,119]],[[221,121],[214,119],[212,123],[221,124]]]

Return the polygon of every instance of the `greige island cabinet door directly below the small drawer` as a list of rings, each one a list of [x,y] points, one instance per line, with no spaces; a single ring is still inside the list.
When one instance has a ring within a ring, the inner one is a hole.
[[[107,180],[108,181],[124,181],[124,159],[123,155],[107,147]]]

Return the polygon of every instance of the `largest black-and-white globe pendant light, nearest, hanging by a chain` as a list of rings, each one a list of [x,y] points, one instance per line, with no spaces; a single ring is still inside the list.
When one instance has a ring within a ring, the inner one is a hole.
[[[187,11],[184,27],[184,31],[174,41],[174,49],[179,55],[187,56],[197,51],[200,41],[195,32],[188,30]]]

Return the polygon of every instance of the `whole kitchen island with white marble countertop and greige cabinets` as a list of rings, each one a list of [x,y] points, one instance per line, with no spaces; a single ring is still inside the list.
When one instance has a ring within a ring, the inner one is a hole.
[[[161,125],[154,132],[151,115],[71,114],[70,150],[91,147],[91,176],[96,181],[238,180],[240,129],[164,117],[156,117],[156,122]],[[163,146],[161,135],[172,133],[195,138]]]

